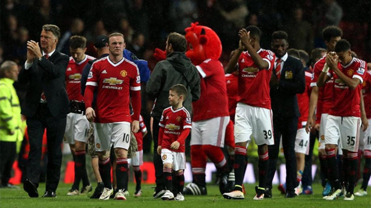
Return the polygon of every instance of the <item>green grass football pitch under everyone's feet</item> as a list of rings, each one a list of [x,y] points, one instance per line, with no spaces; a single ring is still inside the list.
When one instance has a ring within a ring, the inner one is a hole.
[[[135,184],[129,184],[130,196],[127,197],[127,201],[114,201],[109,199],[106,201],[100,201],[98,199],[89,199],[88,195],[79,196],[67,196],[67,192],[70,189],[70,184],[59,184],[56,198],[29,198],[27,193],[23,189],[0,189],[0,207],[1,208],[33,208],[33,207],[68,207],[68,208],[104,208],[104,207],[358,207],[368,208],[371,207],[371,196],[367,197],[355,197],[355,201],[344,201],[344,198],[338,198],[337,200],[327,201],[322,199],[322,187],[319,184],[314,185],[313,195],[300,195],[296,198],[285,199],[283,195],[279,193],[277,187],[273,187],[273,198],[264,199],[262,201],[255,201],[252,198],[255,195],[255,186],[248,184],[246,185],[246,195],[244,200],[227,200],[224,199],[216,185],[208,185],[207,196],[185,196],[185,201],[162,201],[161,199],[153,199],[153,185],[142,185],[143,194],[142,197],[134,198]],[[95,187],[93,187],[95,188]],[[359,186],[355,188],[358,190]],[[45,189],[45,183],[40,184],[39,194],[42,195]]]

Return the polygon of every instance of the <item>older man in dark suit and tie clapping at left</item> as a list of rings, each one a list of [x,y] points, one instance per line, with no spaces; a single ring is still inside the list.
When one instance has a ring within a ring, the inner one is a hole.
[[[59,27],[46,24],[42,27],[40,45],[27,41],[27,61],[19,73],[21,84],[29,83],[26,105],[22,114],[27,117],[30,153],[27,180],[23,189],[30,197],[39,197],[42,138],[46,128],[47,173],[43,197],[56,197],[62,164],[61,143],[66,128],[69,101],[65,89],[65,72],[69,57],[55,50],[60,37]]]

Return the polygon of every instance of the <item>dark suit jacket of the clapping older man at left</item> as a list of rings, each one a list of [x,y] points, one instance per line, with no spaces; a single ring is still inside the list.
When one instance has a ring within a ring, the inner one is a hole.
[[[22,114],[33,117],[44,91],[46,103],[53,117],[66,115],[69,112],[69,100],[65,88],[65,73],[69,57],[55,51],[49,59],[43,57],[33,60],[28,70],[22,67],[18,75],[21,84],[29,83],[26,93],[25,107]]]

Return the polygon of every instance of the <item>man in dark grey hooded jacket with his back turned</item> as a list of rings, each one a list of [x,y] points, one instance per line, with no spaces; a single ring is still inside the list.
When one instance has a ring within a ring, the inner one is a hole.
[[[152,71],[150,80],[147,83],[146,91],[149,100],[154,101],[151,112],[153,118],[153,142],[156,189],[154,198],[159,198],[165,193],[165,181],[162,176],[161,156],[156,154],[158,146],[158,131],[162,111],[169,107],[169,89],[175,84],[183,84],[188,90],[188,96],[183,105],[192,112],[192,102],[200,98],[200,76],[197,68],[191,63],[191,60],[185,56],[187,40],[179,33],[170,33],[166,41],[165,60],[156,64]]]

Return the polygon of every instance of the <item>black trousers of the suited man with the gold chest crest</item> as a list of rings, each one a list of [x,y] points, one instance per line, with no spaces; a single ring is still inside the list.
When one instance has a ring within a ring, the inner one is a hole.
[[[272,189],[272,181],[277,170],[279,143],[282,135],[283,153],[286,159],[286,192],[296,188],[295,137],[298,129],[298,117],[273,117],[275,144],[268,146],[269,168],[266,187]]]

